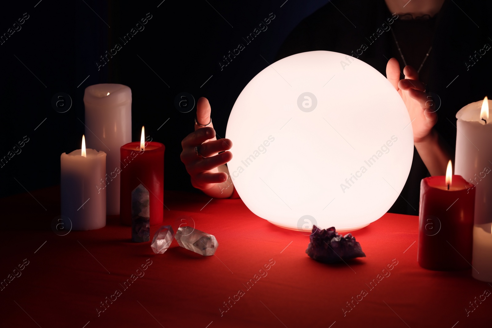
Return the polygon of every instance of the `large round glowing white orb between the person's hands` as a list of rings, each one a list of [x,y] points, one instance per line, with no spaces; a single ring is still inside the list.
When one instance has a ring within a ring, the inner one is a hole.
[[[360,229],[399,197],[413,133],[398,92],[343,54],[296,54],[262,70],[227,124],[229,173],[254,214],[278,226]]]

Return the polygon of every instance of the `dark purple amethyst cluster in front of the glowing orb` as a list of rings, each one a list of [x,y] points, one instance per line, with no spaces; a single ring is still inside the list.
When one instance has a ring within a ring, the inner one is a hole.
[[[312,226],[306,253],[313,260],[323,263],[338,263],[356,257],[366,257],[361,244],[355,241],[352,234],[342,236],[335,227],[319,229]]]

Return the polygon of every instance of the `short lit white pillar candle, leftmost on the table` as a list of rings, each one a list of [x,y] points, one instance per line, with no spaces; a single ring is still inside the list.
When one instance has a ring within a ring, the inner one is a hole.
[[[82,149],[62,153],[60,161],[62,216],[70,219],[63,226],[71,230],[104,227],[106,190],[97,190],[94,185],[106,174],[106,153],[86,149],[82,137]]]

